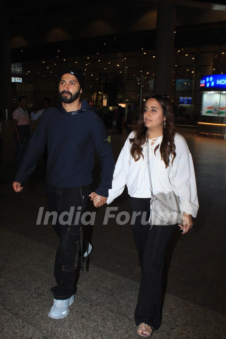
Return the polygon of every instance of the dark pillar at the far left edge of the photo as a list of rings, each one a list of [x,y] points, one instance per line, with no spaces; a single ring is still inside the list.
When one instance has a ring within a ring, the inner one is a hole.
[[[9,13],[5,3],[6,1],[3,1],[0,20],[0,116],[5,119],[5,110],[7,109],[8,119],[12,119],[10,24]]]

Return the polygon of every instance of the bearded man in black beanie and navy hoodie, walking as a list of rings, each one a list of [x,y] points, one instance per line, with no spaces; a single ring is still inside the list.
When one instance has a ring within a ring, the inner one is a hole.
[[[74,301],[79,263],[83,266],[81,217],[89,200],[95,150],[101,161],[101,182],[91,193],[91,198],[100,196],[96,207],[106,203],[115,167],[103,121],[87,101],[80,100],[84,85],[79,69],[65,69],[60,73],[61,102],[41,115],[13,182],[15,192],[21,192],[22,182],[31,174],[31,168],[47,144],[46,195],[53,220],[57,214],[54,228],[60,240],[54,267],[57,285],[51,288],[54,303],[48,313],[54,319],[67,316],[68,307]]]

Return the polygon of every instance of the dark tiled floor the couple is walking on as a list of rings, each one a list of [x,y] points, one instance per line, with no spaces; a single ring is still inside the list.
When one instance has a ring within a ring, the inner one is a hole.
[[[5,126],[5,125],[4,125]],[[11,188],[14,144],[4,128],[0,180],[1,338],[136,338],[133,311],[140,269],[131,226],[114,219],[103,225],[106,206],[97,210],[95,226],[86,226],[94,245],[89,272],[81,273],[76,302],[60,321],[46,314],[52,303],[49,288],[58,240],[49,225],[36,225],[40,206],[46,207],[42,159],[24,190]],[[194,227],[170,241],[164,268],[166,292],[163,322],[153,337],[225,338],[225,201],[226,141],[197,137],[193,129],[179,130],[193,156],[200,211]],[[117,158],[127,134],[112,135]],[[99,164],[95,167],[98,182]],[[94,188],[95,188],[94,183]],[[111,205],[110,205],[111,206]],[[129,211],[125,190],[112,203]],[[90,204],[92,211],[94,208]]]

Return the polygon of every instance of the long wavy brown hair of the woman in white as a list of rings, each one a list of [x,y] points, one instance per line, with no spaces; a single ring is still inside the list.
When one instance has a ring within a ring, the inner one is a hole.
[[[173,124],[172,105],[167,97],[163,97],[158,94],[152,95],[150,98],[156,99],[156,101],[158,101],[158,103],[161,105],[163,109],[163,115],[164,117],[166,117],[166,126],[165,128],[163,128],[163,138],[162,138],[162,142],[160,145],[160,154],[161,154],[161,160],[164,161],[166,165],[165,168],[167,168],[169,166],[170,154],[172,155],[171,163],[173,163],[173,160],[176,157],[176,152],[175,152],[176,147],[174,144],[175,127]],[[147,100],[144,103],[144,107],[146,106]],[[135,127],[135,130],[134,130],[135,136],[134,138],[129,139],[129,141],[132,144],[130,153],[135,161],[138,161],[141,156],[144,158],[144,155],[142,153],[143,146],[146,144],[147,139],[148,139],[147,127],[144,124],[144,107],[142,110],[141,118],[138,121]],[[158,148],[159,148],[159,145],[155,147],[155,151],[154,151],[155,154]]]

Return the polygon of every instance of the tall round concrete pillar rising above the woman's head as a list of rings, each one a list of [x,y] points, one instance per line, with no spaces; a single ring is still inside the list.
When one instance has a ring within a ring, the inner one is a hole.
[[[158,5],[154,94],[171,96],[176,6]]]

